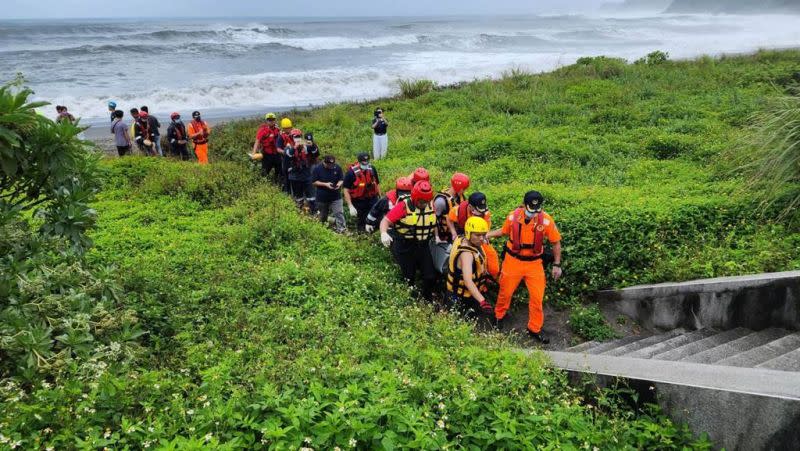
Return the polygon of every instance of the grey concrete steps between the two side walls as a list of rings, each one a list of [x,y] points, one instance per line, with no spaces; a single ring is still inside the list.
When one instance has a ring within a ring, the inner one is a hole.
[[[775,327],[761,331],[675,329],[606,343],[590,341],[565,352],[800,372],[800,332]]]

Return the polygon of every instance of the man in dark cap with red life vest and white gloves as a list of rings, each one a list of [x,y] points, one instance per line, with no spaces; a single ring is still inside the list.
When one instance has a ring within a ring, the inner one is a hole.
[[[350,216],[357,218],[356,230],[366,230],[369,211],[381,196],[378,171],[369,164],[369,154],[361,152],[344,175],[344,200]]]

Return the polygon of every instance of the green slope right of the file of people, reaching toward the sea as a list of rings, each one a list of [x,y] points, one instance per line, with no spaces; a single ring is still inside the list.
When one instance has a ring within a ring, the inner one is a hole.
[[[798,229],[754,215],[727,163],[748,116],[799,74],[800,51],[652,66],[601,59],[384,100],[391,150],[377,167],[391,183],[424,165],[437,186],[464,171],[499,214],[528,189],[544,192],[565,244],[555,302],[598,288],[799,268]],[[374,106],[293,117],[349,161],[371,148]],[[221,128],[216,155],[244,158],[256,125]]]

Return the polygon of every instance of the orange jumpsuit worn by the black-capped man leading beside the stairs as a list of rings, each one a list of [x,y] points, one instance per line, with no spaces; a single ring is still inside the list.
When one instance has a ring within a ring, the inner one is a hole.
[[[523,246],[531,246],[534,244],[534,229],[538,226],[535,220],[536,216],[528,221],[524,219],[524,215],[522,217],[523,220],[520,222],[522,225],[520,241]],[[547,213],[543,213],[542,217],[543,238],[550,243],[561,241],[561,234],[553,218]],[[509,236],[511,234],[511,228],[515,222],[514,213],[512,212],[503,223],[503,235]],[[500,291],[497,294],[497,304],[494,310],[495,317],[500,320],[506,316],[506,312],[511,306],[511,297],[514,295],[514,291],[516,291],[519,283],[525,280],[525,286],[528,287],[528,330],[539,333],[542,330],[542,324],[544,324],[542,301],[544,300],[544,289],[547,280],[544,275],[542,260],[523,261],[512,256],[510,250],[511,243],[508,242],[506,243],[505,258],[503,258],[503,266],[500,271]],[[530,248],[521,249],[519,255],[523,258],[535,257],[534,250]]]

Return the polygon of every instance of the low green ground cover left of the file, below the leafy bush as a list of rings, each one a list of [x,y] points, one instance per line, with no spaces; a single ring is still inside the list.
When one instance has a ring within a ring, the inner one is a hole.
[[[241,167],[111,161],[90,260],[149,336],[135,365],[0,389],[26,447],[669,449],[685,429],[420,308],[383,250]]]

